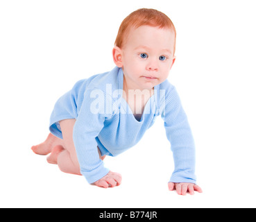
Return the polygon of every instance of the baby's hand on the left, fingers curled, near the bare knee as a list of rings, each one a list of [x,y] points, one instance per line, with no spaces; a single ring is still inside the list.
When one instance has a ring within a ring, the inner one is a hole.
[[[116,187],[121,185],[121,180],[121,174],[110,171],[106,176],[97,180],[92,185],[96,185],[97,187],[103,188]]]

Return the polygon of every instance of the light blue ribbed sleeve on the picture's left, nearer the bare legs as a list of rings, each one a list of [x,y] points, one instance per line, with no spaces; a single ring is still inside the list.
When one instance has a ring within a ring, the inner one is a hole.
[[[85,91],[73,130],[80,173],[89,183],[96,182],[109,172],[99,158],[95,139],[104,126],[105,118],[109,115],[105,112],[105,99],[103,94],[98,94],[96,98],[92,90]]]

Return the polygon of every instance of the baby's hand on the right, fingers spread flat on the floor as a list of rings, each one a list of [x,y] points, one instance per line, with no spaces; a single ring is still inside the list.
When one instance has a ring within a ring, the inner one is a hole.
[[[198,191],[198,193],[203,193],[202,189],[198,185],[190,182],[169,182],[168,187],[170,191],[176,189],[177,194],[179,195],[186,195],[187,191],[189,191],[189,194],[191,195],[194,194],[194,191]]]

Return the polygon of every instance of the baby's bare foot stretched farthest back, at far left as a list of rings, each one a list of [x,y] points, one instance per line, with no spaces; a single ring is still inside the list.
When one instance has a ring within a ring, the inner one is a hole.
[[[32,146],[31,149],[38,155],[47,155],[51,153],[52,148],[57,145],[63,145],[62,139],[49,133],[48,137],[44,142],[42,142],[42,144]]]

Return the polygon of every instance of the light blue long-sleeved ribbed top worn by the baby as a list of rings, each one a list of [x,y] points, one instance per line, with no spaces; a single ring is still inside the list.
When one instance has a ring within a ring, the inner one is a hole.
[[[93,183],[109,172],[99,159],[97,146],[101,155],[117,156],[135,146],[161,115],[175,164],[170,182],[196,183],[194,139],[176,88],[168,80],[156,85],[139,121],[123,99],[122,89],[123,71],[115,67],[78,81],[54,106],[50,119],[53,135],[62,138],[58,121],[76,119],[74,145],[80,173],[87,182]]]

